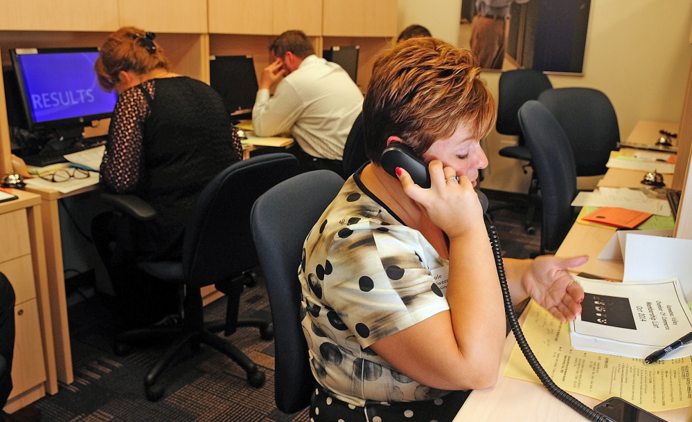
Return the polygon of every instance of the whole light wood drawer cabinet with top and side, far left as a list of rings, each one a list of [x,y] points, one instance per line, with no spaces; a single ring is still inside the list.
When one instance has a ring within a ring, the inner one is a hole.
[[[50,288],[46,275],[41,198],[12,190],[19,197],[0,203],[0,270],[15,288],[14,388],[6,412],[57,393],[51,324]]]

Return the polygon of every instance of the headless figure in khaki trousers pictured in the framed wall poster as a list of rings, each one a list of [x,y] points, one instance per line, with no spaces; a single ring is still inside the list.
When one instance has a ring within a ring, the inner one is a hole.
[[[471,22],[471,50],[481,68],[502,69],[512,3],[529,0],[476,0]]]

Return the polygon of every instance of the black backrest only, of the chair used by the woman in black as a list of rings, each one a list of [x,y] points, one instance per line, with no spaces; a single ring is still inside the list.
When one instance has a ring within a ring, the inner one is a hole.
[[[206,185],[188,221],[183,272],[193,287],[238,277],[259,264],[250,211],[270,187],[296,174],[298,160],[277,153],[233,163]]]

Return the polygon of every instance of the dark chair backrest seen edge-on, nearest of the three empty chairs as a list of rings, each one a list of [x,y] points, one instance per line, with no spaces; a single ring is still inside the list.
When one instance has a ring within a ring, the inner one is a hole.
[[[574,155],[565,131],[542,103],[527,101],[517,115],[540,183],[540,255],[553,253],[576,219],[570,205],[577,194]]]

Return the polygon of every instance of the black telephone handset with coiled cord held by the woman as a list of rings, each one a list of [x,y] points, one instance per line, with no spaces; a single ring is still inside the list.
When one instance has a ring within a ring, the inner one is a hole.
[[[430,174],[427,171],[427,164],[416,155],[416,152],[414,152],[411,147],[404,143],[396,142],[389,144],[389,147],[382,152],[380,163],[382,163],[382,168],[393,177],[398,178],[396,176],[396,167],[401,167],[409,172],[416,185],[425,188],[430,187]],[[485,214],[486,210],[488,209],[488,198],[486,198],[486,195],[480,190],[476,190],[476,193],[478,194],[478,200],[481,201],[483,214]],[[495,256],[495,266],[497,266],[497,276],[499,277],[500,287],[502,288],[502,296],[504,297],[507,320],[515,338],[517,339],[517,344],[524,353],[524,356],[529,362],[531,369],[533,369],[536,375],[538,375],[538,378],[548,389],[548,391],[553,394],[553,396],[559,398],[560,401],[569,405],[569,407],[576,410],[587,419],[594,422],[612,422],[612,419],[605,416],[605,414],[598,413],[597,410],[592,410],[587,405],[581,403],[569,393],[565,392],[565,390],[558,387],[558,385],[551,380],[545,369],[543,369],[543,367],[540,365],[538,359],[535,358],[533,351],[531,351],[531,347],[529,347],[529,343],[526,342],[524,333],[522,333],[522,327],[519,324],[517,313],[514,311],[514,306],[512,305],[512,298],[510,296],[509,287],[507,286],[504,264],[502,262],[502,248],[499,245],[497,230],[489,218],[488,237],[490,237],[490,246],[493,248],[493,255]]]

